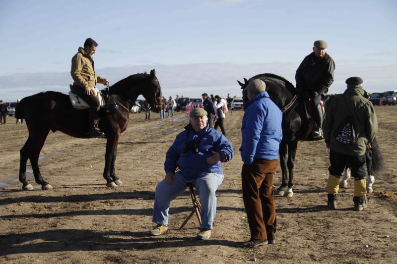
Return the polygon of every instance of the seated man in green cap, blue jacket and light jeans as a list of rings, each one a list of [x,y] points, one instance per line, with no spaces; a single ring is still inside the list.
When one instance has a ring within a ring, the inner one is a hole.
[[[156,187],[153,222],[150,231],[157,236],[168,231],[170,202],[192,183],[199,191],[201,202],[201,229],[199,239],[211,236],[216,212],[215,192],[223,181],[221,162],[233,157],[232,144],[217,130],[209,127],[207,112],[195,108],[190,112],[190,124],[179,133],[168,149],[164,170],[165,178]],[[175,172],[176,169],[180,170]]]

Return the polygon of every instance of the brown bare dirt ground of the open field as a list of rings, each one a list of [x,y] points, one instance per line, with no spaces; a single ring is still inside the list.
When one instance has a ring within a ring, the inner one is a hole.
[[[224,164],[225,180],[217,197],[213,236],[199,232],[188,192],[171,204],[170,230],[158,237],[151,229],[154,190],[164,177],[165,152],[187,124],[183,112],[174,120],[159,114],[145,121],[131,114],[118,147],[116,172],[124,184],[105,187],[104,139],[76,139],[52,133],[39,165],[54,189],[22,191],[18,181],[19,150],[26,125],[9,117],[0,125],[0,263],[393,263],[397,260],[397,107],[378,106],[378,140],[385,170],[375,175],[367,211],[353,211],[352,182],[339,194],[337,211],[326,209],[328,150],[324,142],[300,142],[295,163],[294,197],[276,196],[276,244],[240,249],[249,239],[241,192],[240,125],[243,112],[229,111],[225,127],[235,157]],[[275,187],[281,182],[275,176]]]

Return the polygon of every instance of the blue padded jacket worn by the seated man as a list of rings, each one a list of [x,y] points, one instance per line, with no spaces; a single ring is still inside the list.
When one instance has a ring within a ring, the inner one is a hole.
[[[192,150],[184,153],[186,141],[198,142],[199,152],[194,153]],[[207,158],[212,157],[213,153],[220,155],[220,161],[215,164],[207,163]],[[165,172],[175,172],[178,167],[182,175],[187,180],[195,180],[207,173],[223,174],[221,162],[227,162],[233,158],[232,144],[219,131],[206,126],[200,132],[193,130],[189,124],[185,131],[179,133],[174,143],[168,149],[164,162]]]

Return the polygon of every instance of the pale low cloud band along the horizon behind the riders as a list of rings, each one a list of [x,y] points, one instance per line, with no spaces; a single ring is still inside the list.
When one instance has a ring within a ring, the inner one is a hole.
[[[283,76],[295,84],[296,63],[196,63],[176,65],[127,65],[97,69],[97,73],[110,80],[111,84],[139,72],[150,72],[155,68],[160,81],[163,95],[199,98],[202,93],[219,94],[225,97],[228,93],[240,96],[240,86],[236,80],[251,78],[260,73],[274,73]],[[337,65],[335,80],[330,93],[341,93],[350,76],[364,79],[365,89],[369,92],[382,92],[395,89],[397,83],[397,64],[389,65]],[[59,91],[67,93],[72,83],[69,72],[35,72],[18,73],[0,76],[1,100],[15,101],[43,91]],[[104,86],[98,85],[99,89]]]

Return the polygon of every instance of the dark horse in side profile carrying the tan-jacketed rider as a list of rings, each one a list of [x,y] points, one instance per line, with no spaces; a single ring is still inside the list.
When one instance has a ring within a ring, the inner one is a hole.
[[[105,168],[103,177],[106,186],[117,187],[122,181],[116,176],[115,161],[120,134],[127,129],[132,105],[139,95],[158,109],[162,106],[161,87],[153,69],[150,74],[138,73],[131,75],[108,90],[109,100],[118,107],[108,113],[101,109],[98,127],[106,136]],[[77,138],[89,138],[88,109],[76,110],[72,107],[69,97],[59,92],[42,92],[23,98],[16,106],[15,117],[24,118],[29,130],[29,137],[20,150],[19,181],[22,189],[31,190],[32,185],[26,180],[26,162],[30,159],[35,181],[43,190],[52,186],[43,180],[38,159],[48,133],[57,130]]]

